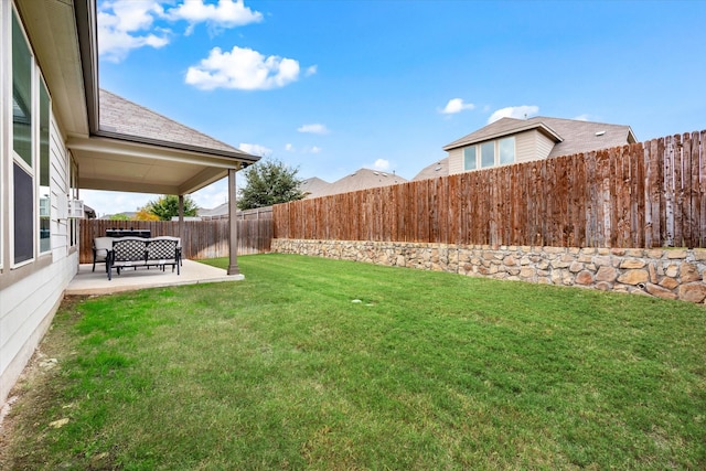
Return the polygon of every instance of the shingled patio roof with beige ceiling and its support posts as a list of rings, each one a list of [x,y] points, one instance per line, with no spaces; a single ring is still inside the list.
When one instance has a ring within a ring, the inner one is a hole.
[[[173,235],[183,238],[183,196],[227,176],[227,275],[239,276],[235,175],[259,157],[104,89],[98,90],[96,104],[96,116],[89,121],[97,128],[90,136],[73,136],[67,141],[77,164],[79,189],[178,195],[180,224]]]

